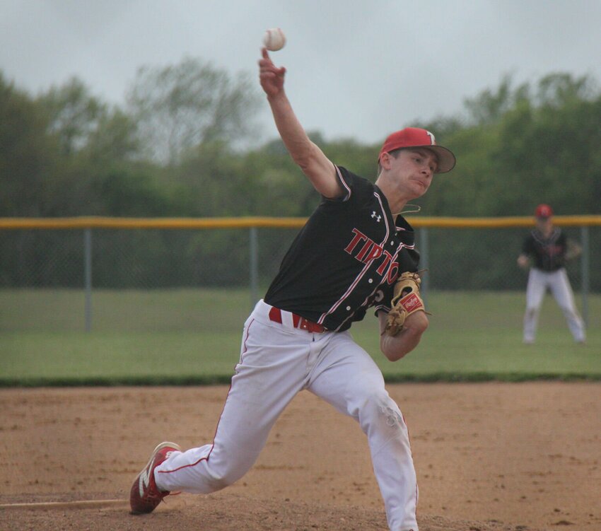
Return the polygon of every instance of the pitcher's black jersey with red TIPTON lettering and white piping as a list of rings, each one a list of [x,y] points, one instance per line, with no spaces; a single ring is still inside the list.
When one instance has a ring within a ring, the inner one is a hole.
[[[322,202],[296,236],[269,286],[267,304],[329,330],[344,330],[366,310],[390,310],[397,276],[415,272],[414,231],[402,216],[397,226],[380,189],[336,167],[342,199]]]

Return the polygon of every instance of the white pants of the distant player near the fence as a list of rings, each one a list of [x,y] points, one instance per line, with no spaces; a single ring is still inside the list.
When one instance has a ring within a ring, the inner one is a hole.
[[[559,304],[561,311],[564,312],[574,341],[584,342],[586,339],[584,323],[578,314],[578,310],[576,310],[574,294],[564,267],[554,272],[544,272],[534,267],[530,268],[526,288],[524,342],[533,343],[535,340],[539,310],[547,288]]]

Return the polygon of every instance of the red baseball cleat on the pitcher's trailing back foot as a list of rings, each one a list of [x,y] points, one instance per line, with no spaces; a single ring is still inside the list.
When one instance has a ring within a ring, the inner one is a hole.
[[[171,452],[181,452],[182,449],[175,443],[161,443],[158,445],[146,467],[136,477],[132,490],[129,491],[129,506],[132,515],[152,513],[169,491],[159,491],[154,479],[154,469],[169,457]]]

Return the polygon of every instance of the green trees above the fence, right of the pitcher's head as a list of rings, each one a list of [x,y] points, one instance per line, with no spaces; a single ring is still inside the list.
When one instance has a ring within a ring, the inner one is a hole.
[[[549,74],[514,89],[503,78],[466,108],[465,124],[421,124],[457,155],[453,173],[421,199],[426,214],[524,216],[540,202],[561,214],[600,212],[601,92],[592,79]]]

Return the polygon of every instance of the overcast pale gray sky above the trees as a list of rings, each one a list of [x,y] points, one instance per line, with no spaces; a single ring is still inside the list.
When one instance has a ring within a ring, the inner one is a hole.
[[[143,65],[201,57],[256,76],[276,26],[288,98],[327,139],[378,143],[414,119],[457,115],[504,74],[601,82],[600,0],[0,0],[0,69],[33,95],[77,76],[123,103]],[[276,136],[267,103],[262,122]]]

